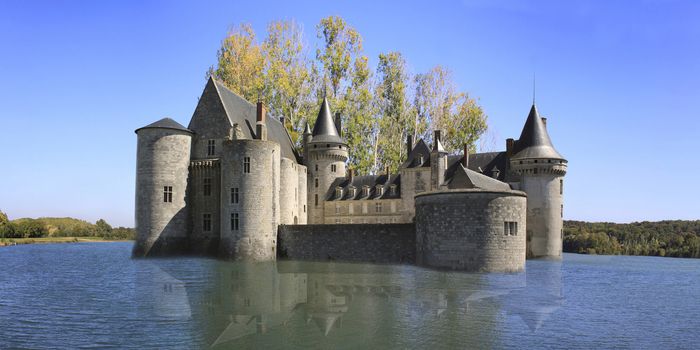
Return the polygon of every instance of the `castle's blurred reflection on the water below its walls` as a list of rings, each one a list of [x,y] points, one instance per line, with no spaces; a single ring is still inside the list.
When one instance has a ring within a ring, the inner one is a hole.
[[[198,283],[158,264],[144,262],[142,303],[189,320],[213,348],[497,347],[504,327],[537,332],[564,302],[554,261],[528,261],[518,274],[212,261]]]

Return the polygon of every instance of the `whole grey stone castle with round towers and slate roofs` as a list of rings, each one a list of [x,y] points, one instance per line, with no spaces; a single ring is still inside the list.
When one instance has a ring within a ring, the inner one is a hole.
[[[346,169],[339,130],[340,116],[324,98],[297,152],[262,103],[210,78],[187,128],[165,118],[136,130],[133,255],[466,271],[518,271],[526,257],[561,257],[567,161],[534,104],[520,138],[507,139],[503,152],[465,147],[451,155],[436,130],[430,146],[407,138],[406,161],[395,173]]]

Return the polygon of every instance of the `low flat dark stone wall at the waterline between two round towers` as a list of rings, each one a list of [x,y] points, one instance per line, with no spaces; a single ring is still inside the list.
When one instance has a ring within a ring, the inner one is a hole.
[[[282,225],[278,258],[309,261],[414,263],[413,224]]]

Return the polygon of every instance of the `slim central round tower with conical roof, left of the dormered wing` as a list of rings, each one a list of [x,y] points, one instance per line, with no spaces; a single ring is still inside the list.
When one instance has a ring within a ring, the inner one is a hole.
[[[339,127],[339,125],[338,125]],[[311,137],[305,136],[305,154],[308,222],[322,224],[323,201],[333,181],[345,177],[345,162],[348,160],[348,145],[342,139],[331,116],[328,100],[324,97]]]

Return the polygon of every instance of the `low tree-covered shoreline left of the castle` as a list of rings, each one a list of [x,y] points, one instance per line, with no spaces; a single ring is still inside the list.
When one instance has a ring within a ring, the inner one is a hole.
[[[105,239],[134,239],[134,229],[112,227],[100,219],[91,224],[73,218],[22,218],[9,220],[0,211],[0,238],[40,237],[102,237]]]

